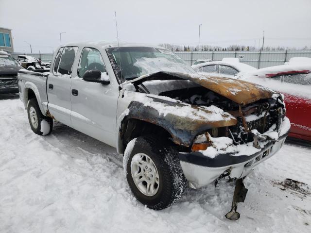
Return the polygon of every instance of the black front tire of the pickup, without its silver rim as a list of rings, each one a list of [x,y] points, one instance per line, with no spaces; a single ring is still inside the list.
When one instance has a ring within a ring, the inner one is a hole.
[[[134,155],[144,153],[154,162],[159,174],[159,186],[154,196],[146,196],[134,183],[131,162]],[[181,169],[176,150],[152,136],[141,136],[128,143],[123,166],[127,182],[134,196],[148,208],[161,210],[178,201],[186,189],[186,178]]]

